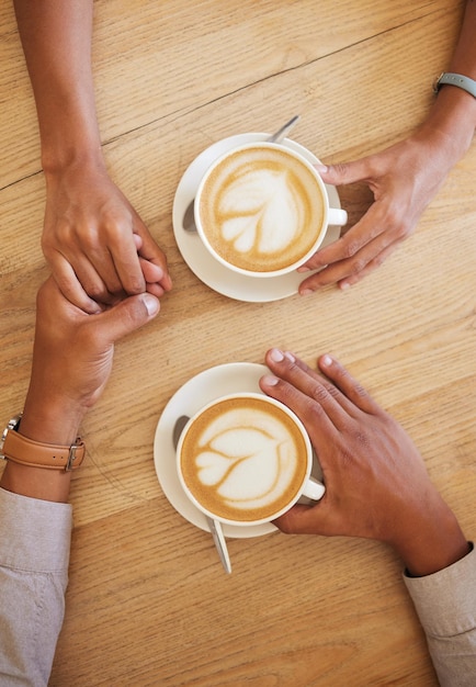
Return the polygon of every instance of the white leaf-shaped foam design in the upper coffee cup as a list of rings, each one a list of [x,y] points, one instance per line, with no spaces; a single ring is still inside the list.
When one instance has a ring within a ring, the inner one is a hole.
[[[302,194],[292,174],[273,169],[238,172],[219,202],[223,238],[238,252],[281,252],[303,228]]]

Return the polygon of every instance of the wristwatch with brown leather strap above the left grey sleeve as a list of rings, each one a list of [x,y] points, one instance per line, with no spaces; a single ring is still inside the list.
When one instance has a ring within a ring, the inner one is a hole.
[[[33,441],[18,429],[21,415],[13,417],[3,430],[0,440],[0,459],[13,461],[30,468],[46,468],[47,470],[77,470],[86,453],[84,443],[78,437],[71,446],[57,446]]]

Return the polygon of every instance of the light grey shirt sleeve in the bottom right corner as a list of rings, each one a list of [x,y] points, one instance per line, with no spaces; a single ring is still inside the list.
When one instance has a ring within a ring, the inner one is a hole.
[[[442,687],[476,685],[476,550],[427,577],[404,576]]]

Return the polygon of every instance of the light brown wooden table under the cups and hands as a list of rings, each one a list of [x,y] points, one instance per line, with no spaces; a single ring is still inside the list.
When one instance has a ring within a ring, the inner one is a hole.
[[[35,108],[10,3],[0,9],[0,417],[23,402],[34,297],[47,274]],[[348,292],[270,303],[202,283],[172,232],[177,185],[231,134],[271,132],[326,161],[390,144],[428,111],[447,64],[458,0],[228,0],[95,3],[94,74],[112,177],[167,251],[174,282],[158,319],[122,341],[83,425],[75,476],[67,611],[50,684],[178,687],[435,685],[401,582],[378,543],[234,539],[226,576],[209,534],[169,504],[154,437],[170,397],[213,365],[262,362],[273,346],[309,363],[338,356],[413,437],[476,532],[476,148],[416,235]],[[351,222],[363,189],[341,190]]]

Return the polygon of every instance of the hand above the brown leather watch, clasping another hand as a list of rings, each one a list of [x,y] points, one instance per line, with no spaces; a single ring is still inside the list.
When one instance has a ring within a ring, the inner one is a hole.
[[[70,428],[73,438],[109,379],[114,342],[152,319],[159,308],[156,296],[143,293],[90,315],[70,303],[50,277],[37,295],[22,431],[38,441],[67,443],[57,435]],[[47,438],[39,439],[39,431]]]

